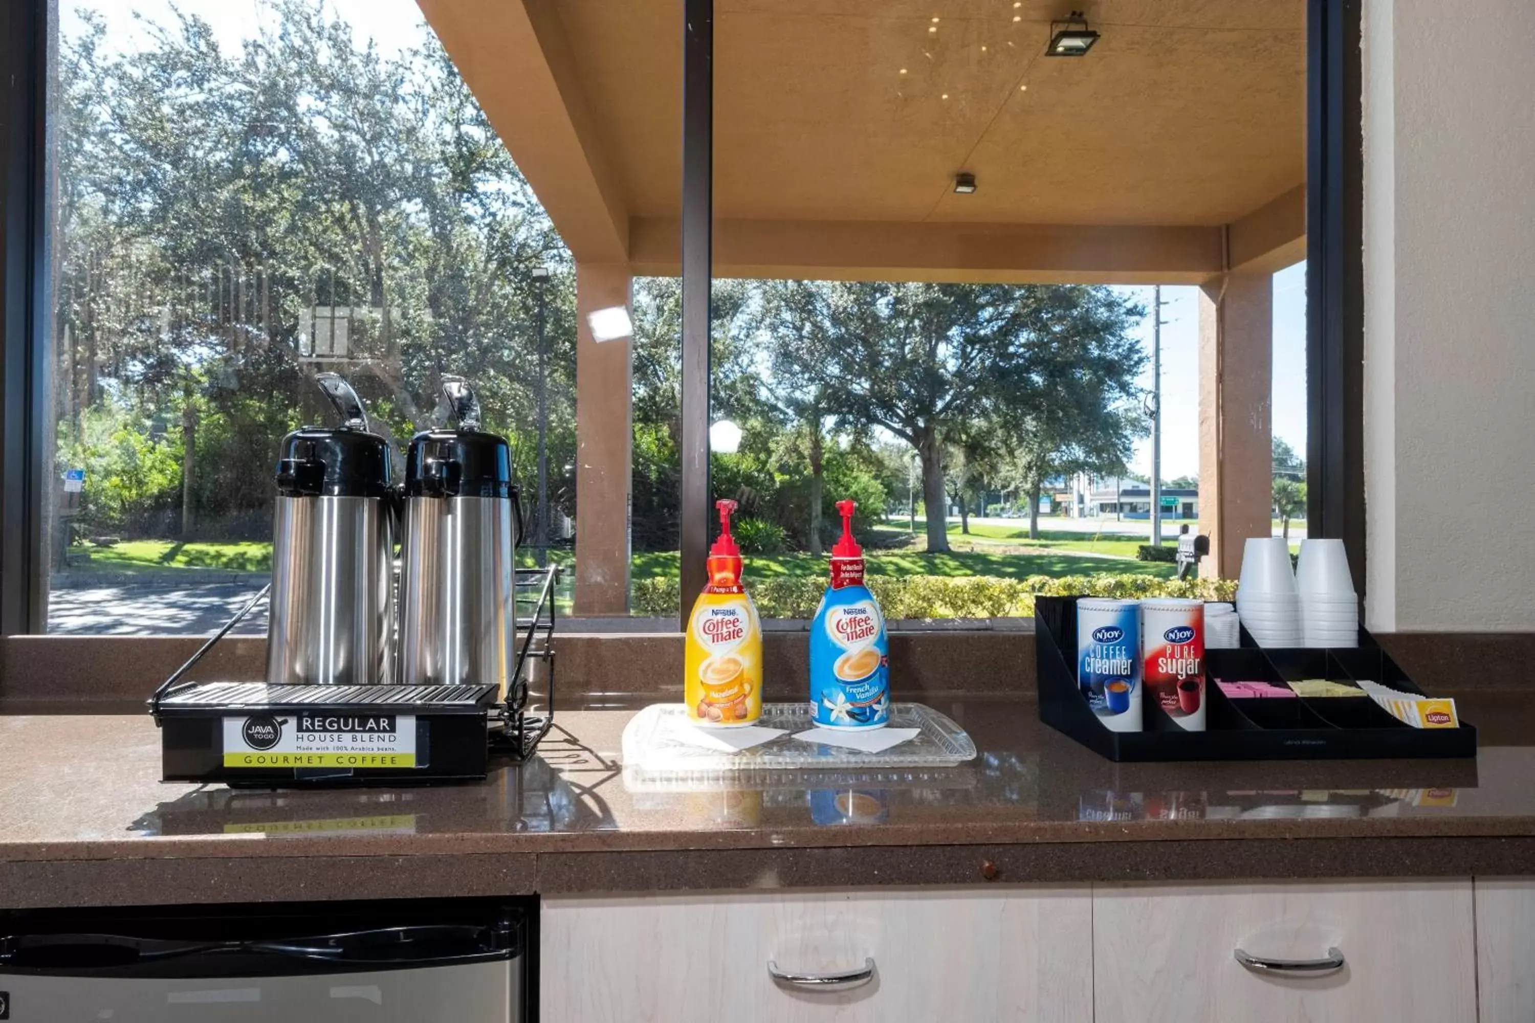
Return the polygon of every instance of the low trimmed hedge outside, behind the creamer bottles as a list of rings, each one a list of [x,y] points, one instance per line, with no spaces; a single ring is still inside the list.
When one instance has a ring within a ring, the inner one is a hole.
[[[992,578],[985,575],[870,575],[886,618],[1028,618],[1035,597],[1196,597],[1233,600],[1236,580],[1164,580],[1150,575],[1030,575]],[[634,583],[632,613],[675,617],[678,583],[674,578],[648,578]],[[748,590],[764,618],[812,618],[826,592],[821,578],[774,578],[748,583]]]

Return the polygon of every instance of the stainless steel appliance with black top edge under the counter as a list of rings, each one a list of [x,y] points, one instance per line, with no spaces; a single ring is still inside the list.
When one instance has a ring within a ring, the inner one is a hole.
[[[15,1023],[533,1018],[520,906],[200,906],[0,917]]]

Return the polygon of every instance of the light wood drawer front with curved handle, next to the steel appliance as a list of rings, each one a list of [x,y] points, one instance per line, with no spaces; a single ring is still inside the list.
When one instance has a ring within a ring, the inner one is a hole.
[[[1081,1023],[1093,1018],[1087,886],[689,893],[546,899],[545,1023]],[[875,960],[870,983],[810,992],[784,971]]]

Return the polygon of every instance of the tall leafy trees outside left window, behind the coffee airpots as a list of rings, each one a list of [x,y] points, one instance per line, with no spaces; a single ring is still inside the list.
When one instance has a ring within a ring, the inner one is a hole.
[[[528,270],[550,265],[559,475],[574,462],[574,275],[527,181],[425,26],[384,57],[319,0],[267,6],[233,51],[181,12],[134,48],[107,46],[89,12],[61,40],[60,449],[117,396],[178,426],[177,485],[135,491],[143,521],[264,537],[278,439],[327,414],[315,371],[352,376],[401,439],[439,420],[441,376],[465,373],[531,485]],[[305,354],[328,337],[316,308],[348,314],[341,365]]]

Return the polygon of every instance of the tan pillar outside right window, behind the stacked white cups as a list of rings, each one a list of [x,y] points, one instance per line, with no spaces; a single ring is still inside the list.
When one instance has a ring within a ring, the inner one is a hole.
[[[1273,532],[1274,278],[1228,273],[1199,296],[1199,531],[1207,577],[1237,578]]]

